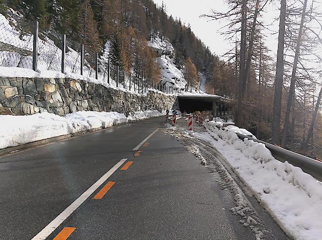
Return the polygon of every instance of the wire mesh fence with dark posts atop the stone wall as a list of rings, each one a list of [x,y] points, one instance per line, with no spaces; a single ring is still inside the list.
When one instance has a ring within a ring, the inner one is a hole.
[[[144,93],[149,88],[169,94],[179,92],[179,89],[166,86],[165,82],[158,84],[149,78],[126,73],[112,64],[107,54],[91,51],[64,35],[38,32],[38,24],[32,22],[10,25],[8,21],[0,21],[0,66],[83,75],[106,86],[114,85],[137,93]]]

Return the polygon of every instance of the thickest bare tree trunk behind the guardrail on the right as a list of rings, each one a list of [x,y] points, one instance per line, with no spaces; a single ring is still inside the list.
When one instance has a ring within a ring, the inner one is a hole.
[[[275,75],[273,122],[272,122],[272,143],[273,144],[279,143],[279,133],[280,133],[280,117],[281,117],[283,72],[284,72],[283,57],[284,57],[284,38],[285,38],[285,18],[286,18],[286,0],[281,0],[276,75]]]

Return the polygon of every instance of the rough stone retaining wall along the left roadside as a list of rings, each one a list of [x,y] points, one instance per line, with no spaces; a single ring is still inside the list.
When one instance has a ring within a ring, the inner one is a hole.
[[[155,91],[136,95],[100,84],[73,79],[0,78],[0,115],[76,111],[135,111],[178,109],[176,96]]]

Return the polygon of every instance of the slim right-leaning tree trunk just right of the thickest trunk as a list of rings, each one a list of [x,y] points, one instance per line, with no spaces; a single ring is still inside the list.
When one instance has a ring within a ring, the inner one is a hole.
[[[286,145],[288,123],[289,123],[291,108],[293,105],[293,98],[294,98],[294,91],[295,91],[295,75],[296,75],[296,68],[297,68],[297,63],[299,60],[300,48],[301,48],[301,43],[302,43],[301,40],[302,40],[302,32],[303,32],[303,25],[304,25],[304,20],[305,20],[305,12],[306,12],[307,2],[308,2],[308,0],[304,0],[299,36],[297,38],[297,43],[296,43],[296,51],[295,51],[295,57],[294,57],[294,62],[293,62],[291,85],[290,85],[290,91],[288,93],[286,112],[285,112],[284,128],[283,128],[283,135],[282,135],[282,142],[281,142],[282,148],[285,148],[285,145]]]

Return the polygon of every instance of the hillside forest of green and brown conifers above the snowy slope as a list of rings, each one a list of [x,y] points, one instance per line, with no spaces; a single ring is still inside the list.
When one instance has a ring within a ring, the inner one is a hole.
[[[157,7],[152,0],[2,0],[3,15],[8,7],[22,13],[27,21],[38,20],[40,31],[51,38],[66,34],[91,51],[103,53],[108,48],[112,63],[127,72],[160,79],[162,69],[154,61],[157,56],[148,48],[160,38],[172,44],[174,54],[168,58],[178,70],[192,63],[207,81],[225,85],[222,82],[231,78],[230,66],[220,63],[190,26],[168,16],[164,7]],[[185,75],[185,79],[198,88],[197,76]],[[218,89],[216,93],[224,93]]]

